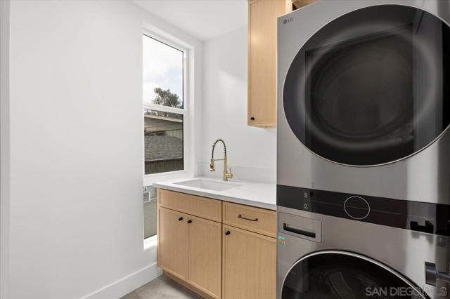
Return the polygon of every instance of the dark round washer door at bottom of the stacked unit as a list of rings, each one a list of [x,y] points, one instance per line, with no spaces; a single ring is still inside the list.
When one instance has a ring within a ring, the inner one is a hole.
[[[423,299],[420,288],[362,255],[319,251],[300,259],[283,281],[282,299]]]

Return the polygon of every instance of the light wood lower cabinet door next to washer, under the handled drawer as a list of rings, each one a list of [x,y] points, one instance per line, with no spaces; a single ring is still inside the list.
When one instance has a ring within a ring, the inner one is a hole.
[[[223,298],[276,298],[276,239],[224,225]]]

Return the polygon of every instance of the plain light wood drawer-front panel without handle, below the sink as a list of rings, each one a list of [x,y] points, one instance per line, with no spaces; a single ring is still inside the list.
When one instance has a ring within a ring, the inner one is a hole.
[[[164,189],[158,190],[158,193],[158,203],[162,207],[217,222],[222,221],[222,204],[219,200]]]

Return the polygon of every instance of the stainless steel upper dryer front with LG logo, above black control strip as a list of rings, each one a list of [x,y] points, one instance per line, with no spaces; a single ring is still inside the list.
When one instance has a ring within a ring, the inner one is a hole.
[[[377,11],[385,9],[383,6],[390,6],[388,13]],[[374,10],[367,13],[366,8]],[[404,26],[395,21],[397,11],[405,18]],[[347,19],[349,13],[356,13],[356,17]],[[367,20],[386,30],[371,32],[378,27],[369,26]],[[319,0],[279,18],[278,185],[450,204],[450,131],[445,113],[450,106],[444,99],[449,92],[449,20],[450,1],[439,0]],[[339,34],[333,33],[335,27],[327,27],[332,22],[343,28]],[[397,23],[390,28],[391,22]],[[440,35],[433,40],[432,34],[418,37],[420,26],[439,27]],[[361,32],[371,34],[358,37]],[[345,41],[342,34],[347,34]],[[406,35],[409,37],[403,40],[401,36]],[[439,42],[442,45],[436,46]],[[308,49],[307,61],[299,60],[297,54],[310,44],[319,46]],[[418,50],[421,44],[428,45],[428,52],[433,47],[439,52],[431,62],[427,60],[431,56]],[[373,51],[377,47],[384,49],[383,57]],[[439,59],[442,64],[437,69]],[[295,75],[288,77],[293,65]],[[437,73],[442,75],[433,77]],[[378,83],[371,82],[373,78]],[[420,119],[418,109],[427,103],[427,95],[418,90],[417,86],[423,86],[418,82],[430,80],[434,80],[433,90],[439,89],[439,96],[435,96],[432,109],[424,108],[425,118]],[[357,85],[348,84],[352,81]],[[286,84],[291,86],[289,91],[285,91]],[[300,87],[292,91],[296,84]],[[342,90],[341,85],[345,86]],[[402,87],[397,88],[399,85]],[[371,98],[373,93],[375,98]],[[396,100],[398,103],[391,106]],[[293,107],[288,107],[293,101]],[[373,109],[372,103],[376,106]],[[306,121],[300,124],[302,119]],[[430,129],[433,121],[436,126]],[[321,124],[319,133],[311,129],[317,124]]]

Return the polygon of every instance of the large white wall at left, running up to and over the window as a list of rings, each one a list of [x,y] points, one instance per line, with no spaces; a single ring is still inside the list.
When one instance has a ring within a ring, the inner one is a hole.
[[[155,275],[142,219],[147,25],[193,45],[199,72],[202,44],[127,1],[11,2],[10,298],[117,298]]]

